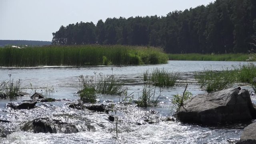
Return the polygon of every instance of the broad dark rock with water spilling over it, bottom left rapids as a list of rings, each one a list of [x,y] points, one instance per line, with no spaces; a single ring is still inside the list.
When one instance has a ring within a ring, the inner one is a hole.
[[[36,118],[29,122],[26,122],[21,126],[21,130],[34,133],[77,133],[81,131],[95,130],[94,126],[86,120],[81,120],[80,123],[72,121],[72,116],[69,117],[71,120],[64,121],[65,118]]]

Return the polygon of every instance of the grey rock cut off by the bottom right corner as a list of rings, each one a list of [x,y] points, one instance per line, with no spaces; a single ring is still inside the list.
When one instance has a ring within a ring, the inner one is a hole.
[[[244,128],[240,141],[236,144],[256,144],[256,123],[252,123]]]

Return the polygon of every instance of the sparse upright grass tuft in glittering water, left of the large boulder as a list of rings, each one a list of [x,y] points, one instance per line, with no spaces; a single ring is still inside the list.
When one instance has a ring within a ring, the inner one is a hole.
[[[141,93],[141,94],[140,94]],[[156,87],[151,86],[150,84],[144,84],[142,91],[138,92],[138,100],[136,101],[137,106],[139,107],[149,107],[149,106],[157,106],[160,102],[159,97],[160,94],[156,95]]]

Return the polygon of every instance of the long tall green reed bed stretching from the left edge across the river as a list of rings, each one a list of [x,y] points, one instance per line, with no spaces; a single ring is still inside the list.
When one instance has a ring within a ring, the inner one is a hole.
[[[42,46],[0,48],[0,66],[97,66],[164,64],[168,55],[160,48],[142,46]]]

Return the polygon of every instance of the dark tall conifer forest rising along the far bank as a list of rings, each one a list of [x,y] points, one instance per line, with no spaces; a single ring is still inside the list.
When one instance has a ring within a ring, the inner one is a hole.
[[[256,0],[216,0],[166,16],[80,22],[52,33],[52,44],[121,44],[164,48],[168,53],[243,53],[256,38]]]

